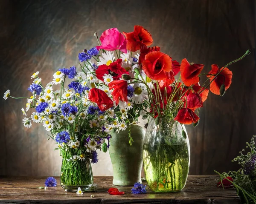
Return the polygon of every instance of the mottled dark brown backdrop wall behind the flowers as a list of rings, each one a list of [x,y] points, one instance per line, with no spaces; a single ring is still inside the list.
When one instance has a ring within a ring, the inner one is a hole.
[[[233,83],[224,97],[210,94],[200,124],[187,128],[190,174],[233,170],[231,159],[256,134],[255,11],[253,0],[2,0],[0,93],[30,96],[33,72],[47,83],[58,68],[77,66],[78,53],[96,46],[93,33],[112,27],[131,32],[142,25],[161,51],[203,63],[206,72],[252,49],[230,66]],[[25,102],[0,100],[0,175],[58,175],[53,141],[39,125],[23,128]]]

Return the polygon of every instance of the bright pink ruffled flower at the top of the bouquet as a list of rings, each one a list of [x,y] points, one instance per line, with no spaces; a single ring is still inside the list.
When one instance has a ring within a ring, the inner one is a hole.
[[[99,40],[101,41],[101,46],[96,46],[99,49],[105,49],[107,51],[121,50],[124,53],[127,53],[126,43],[127,40],[120,33],[117,28],[112,28],[105,30],[100,36]]]

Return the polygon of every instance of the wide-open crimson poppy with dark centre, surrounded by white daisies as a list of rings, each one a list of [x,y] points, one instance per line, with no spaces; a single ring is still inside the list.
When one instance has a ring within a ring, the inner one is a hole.
[[[119,80],[122,78],[123,74],[129,74],[125,70],[125,68],[121,67],[122,59],[117,59],[116,61],[112,62],[109,66],[106,64],[100,65],[98,69],[96,69],[96,77],[103,81],[103,76],[105,74],[110,74],[113,77],[113,80]]]

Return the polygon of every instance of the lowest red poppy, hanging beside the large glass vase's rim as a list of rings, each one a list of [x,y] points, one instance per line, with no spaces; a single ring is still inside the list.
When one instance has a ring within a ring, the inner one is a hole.
[[[199,121],[199,117],[191,109],[182,108],[179,110],[174,120],[181,124],[190,125],[192,123],[197,123]]]

